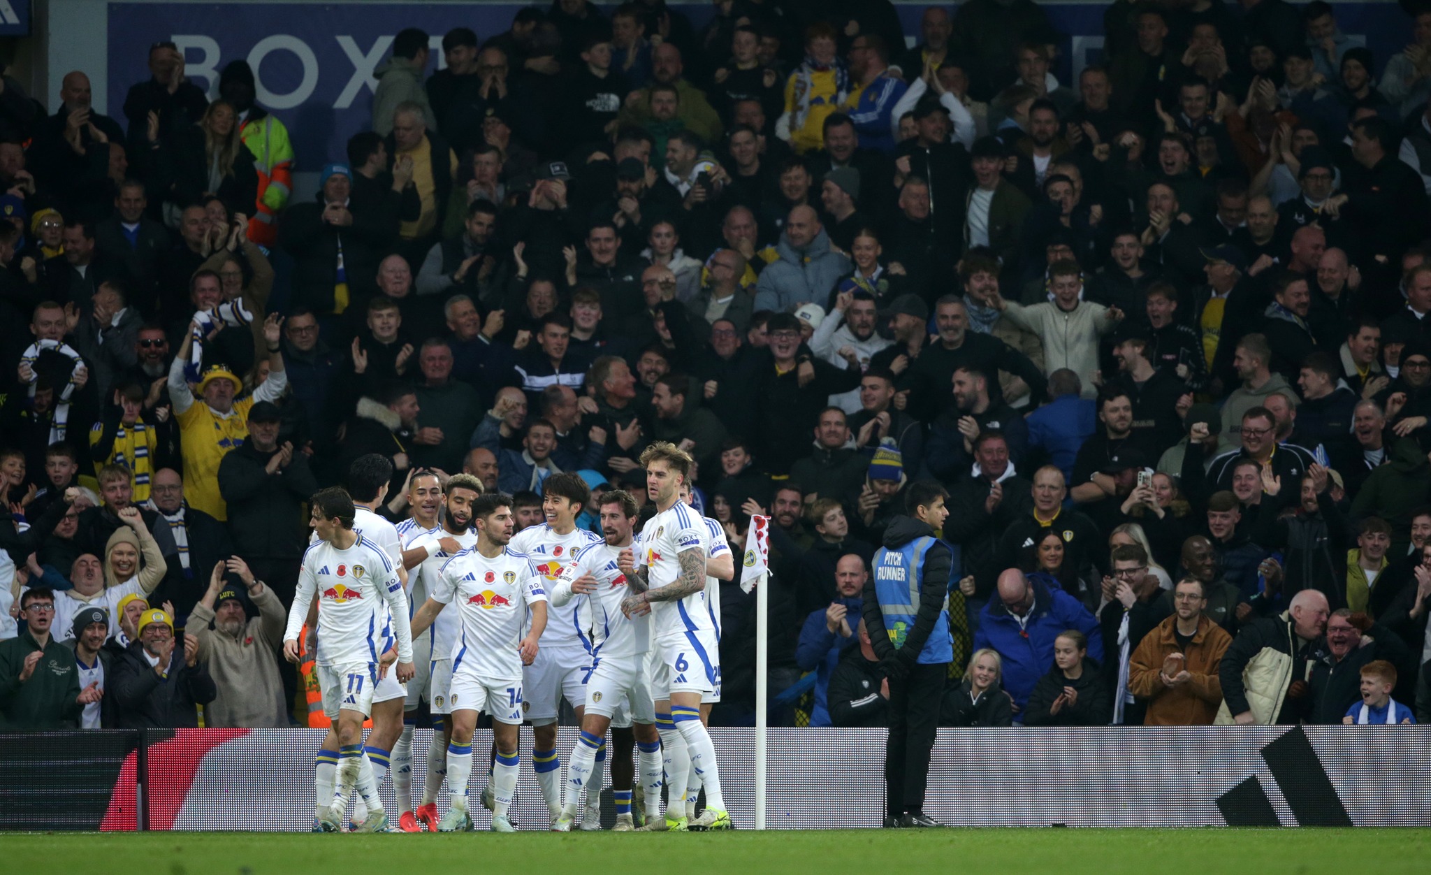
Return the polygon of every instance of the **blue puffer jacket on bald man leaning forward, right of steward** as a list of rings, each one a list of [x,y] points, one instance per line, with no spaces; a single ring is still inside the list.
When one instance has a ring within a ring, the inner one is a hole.
[[[1088,636],[1088,656],[1103,660],[1103,633],[1098,617],[1063,590],[1052,590],[1037,577],[1029,581],[1033,584],[1033,607],[1023,629],[995,596],[979,613],[979,632],[975,633],[975,650],[993,647],[1003,660],[1003,689],[1020,710],[1035,685],[1053,666],[1053,639],[1060,633],[1078,629]]]

